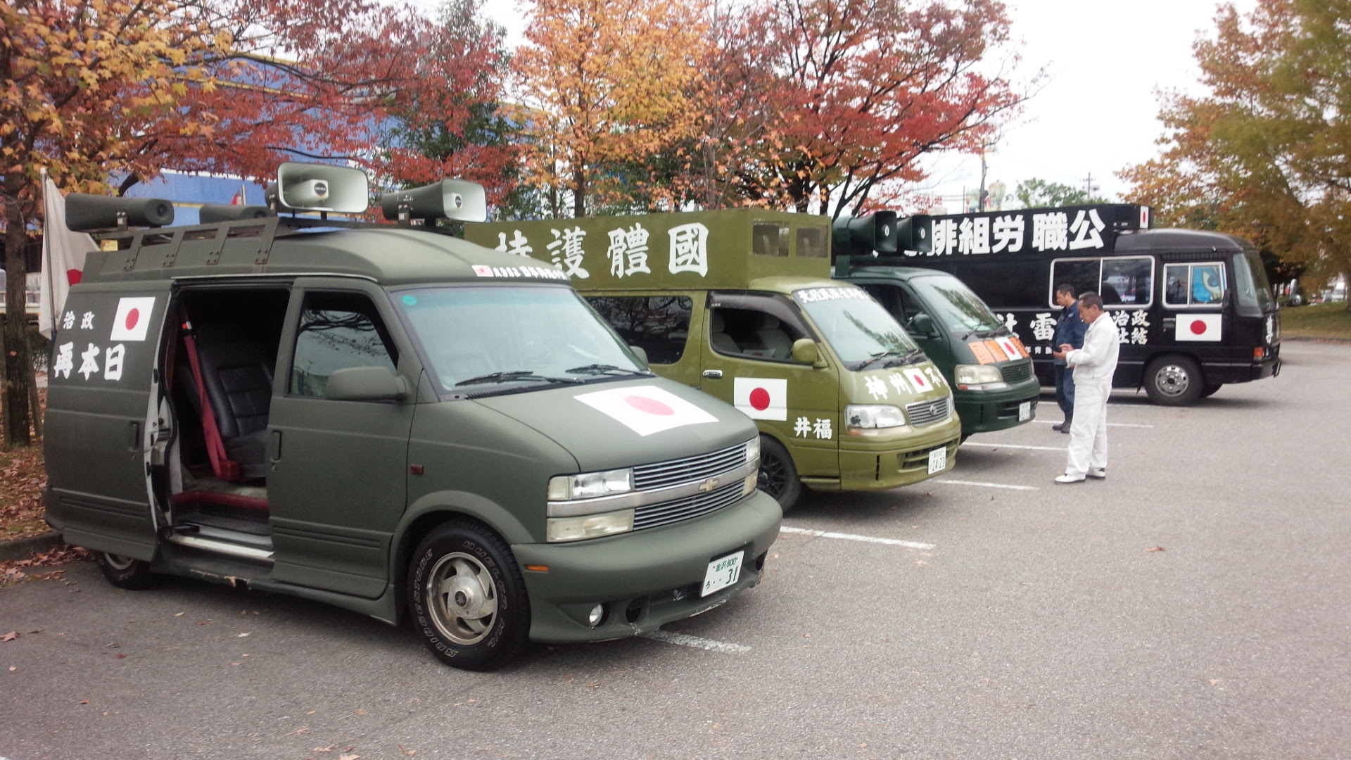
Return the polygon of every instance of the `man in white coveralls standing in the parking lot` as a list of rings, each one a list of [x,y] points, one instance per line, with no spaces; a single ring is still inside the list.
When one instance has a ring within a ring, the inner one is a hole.
[[[1106,477],[1106,399],[1121,348],[1116,323],[1102,319],[1102,298],[1096,292],[1079,296],[1079,318],[1088,322],[1084,348],[1061,343],[1051,356],[1074,368],[1074,422],[1070,426],[1070,456],[1065,475],[1056,483],[1082,483],[1085,477]]]

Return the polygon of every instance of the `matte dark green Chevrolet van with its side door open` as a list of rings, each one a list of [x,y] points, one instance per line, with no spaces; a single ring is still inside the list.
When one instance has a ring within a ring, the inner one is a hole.
[[[195,226],[68,199],[111,250],[57,319],[53,527],[115,586],[408,619],[467,669],[755,586],[782,518],[755,425],[648,372],[553,264],[438,231],[482,218],[477,185],[385,195],[399,224],[327,219],[367,193],[359,170],[284,164],[272,207]]]

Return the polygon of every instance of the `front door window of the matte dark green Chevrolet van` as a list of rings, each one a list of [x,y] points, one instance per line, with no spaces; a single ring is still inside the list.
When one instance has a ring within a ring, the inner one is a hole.
[[[323,396],[328,376],[349,366],[384,366],[399,361],[376,304],[362,293],[307,293],[290,360],[290,394]]]

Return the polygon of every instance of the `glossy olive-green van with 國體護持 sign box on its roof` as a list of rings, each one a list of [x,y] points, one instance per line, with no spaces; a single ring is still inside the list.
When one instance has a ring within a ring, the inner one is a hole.
[[[961,421],[936,366],[867,292],[831,280],[831,222],[767,210],[466,224],[553,262],[661,376],[761,431],[759,487],[896,488],[952,468]]]

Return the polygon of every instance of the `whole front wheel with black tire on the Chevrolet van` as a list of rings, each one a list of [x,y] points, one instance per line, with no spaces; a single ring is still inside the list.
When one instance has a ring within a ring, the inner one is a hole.
[[[438,526],[408,568],[408,607],[427,648],[447,665],[494,671],[530,640],[530,596],[511,548],[477,522]]]

